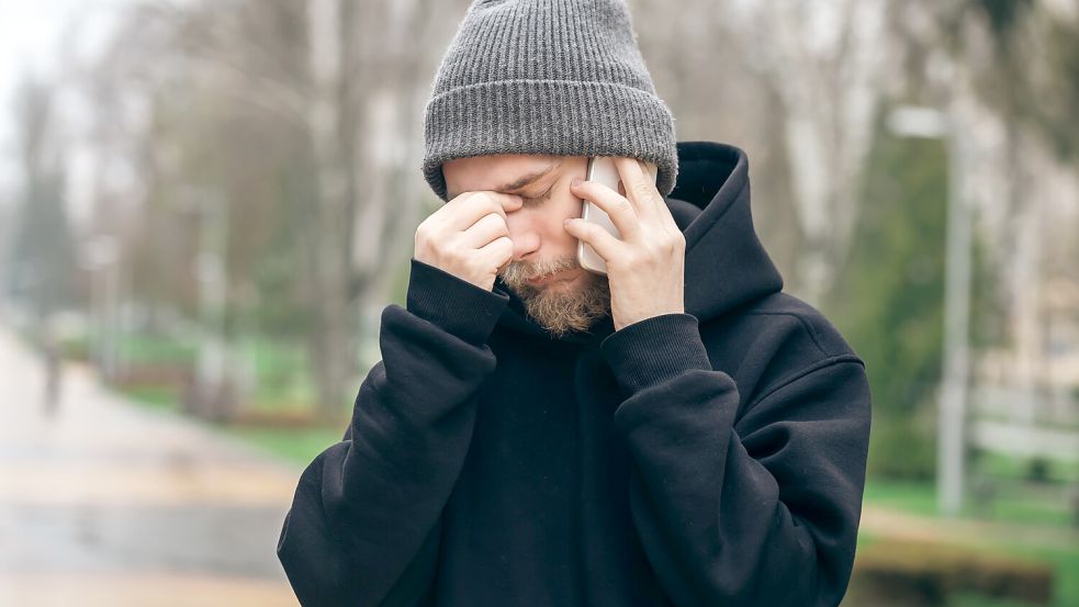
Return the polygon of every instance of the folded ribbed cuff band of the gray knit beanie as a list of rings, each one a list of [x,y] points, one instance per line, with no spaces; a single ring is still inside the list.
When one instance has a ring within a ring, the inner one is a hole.
[[[501,80],[459,87],[427,104],[424,177],[447,200],[442,162],[494,154],[626,156],[652,162],[674,190],[674,117],[655,94],[616,82]]]

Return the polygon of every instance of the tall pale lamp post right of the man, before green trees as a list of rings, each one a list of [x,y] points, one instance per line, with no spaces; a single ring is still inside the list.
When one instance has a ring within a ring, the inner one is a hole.
[[[942,139],[947,148],[948,193],[945,243],[944,362],[937,412],[936,498],[942,514],[963,507],[968,335],[970,325],[971,211],[963,191],[966,150],[955,120],[932,108],[900,106],[888,116],[899,136]]]

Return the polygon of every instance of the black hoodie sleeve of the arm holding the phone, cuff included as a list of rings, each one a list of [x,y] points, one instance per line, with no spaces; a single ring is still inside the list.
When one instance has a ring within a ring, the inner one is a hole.
[[[614,424],[634,462],[633,522],[673,603],[839,605],[869,439],[861,360],[822,357],[735,427],[738,386],[711,369],[695,316],[629,325],[602,350],[628,396]]]

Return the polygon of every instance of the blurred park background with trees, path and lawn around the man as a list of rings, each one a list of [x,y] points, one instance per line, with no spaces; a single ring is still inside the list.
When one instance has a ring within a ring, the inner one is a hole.
[[[844,605],[1079,605],[1079,1],[631,0],[865,359]],[[295,605],[464,0],[0,9],[0,604]]]

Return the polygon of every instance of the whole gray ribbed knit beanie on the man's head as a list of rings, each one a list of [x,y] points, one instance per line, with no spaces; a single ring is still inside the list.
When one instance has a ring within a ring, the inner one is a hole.
[[[435,76],[424,177],[492,154],[629,156],[678,172],[674,117],[655,94],[625,0],[475,0]]]

